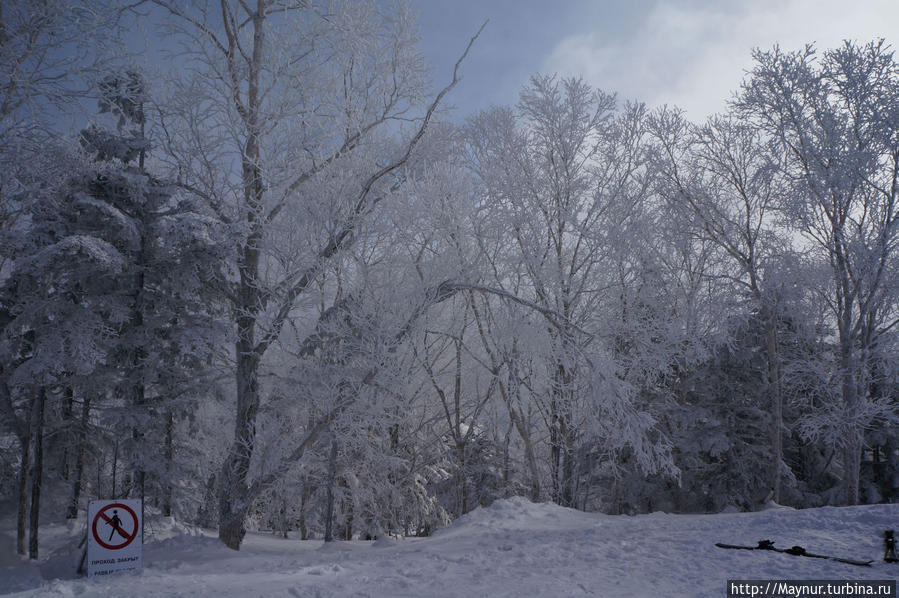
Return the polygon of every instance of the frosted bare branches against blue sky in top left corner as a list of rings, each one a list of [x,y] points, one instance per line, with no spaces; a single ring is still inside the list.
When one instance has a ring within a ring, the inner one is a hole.
[[[0,7],[0,226],[13,226],[37,188],[65,179],[68,115],[82,113],[89,82],[118,49],[116,12],[94,0],[7,2]],[[0,274],[9,267],[0,262]]]

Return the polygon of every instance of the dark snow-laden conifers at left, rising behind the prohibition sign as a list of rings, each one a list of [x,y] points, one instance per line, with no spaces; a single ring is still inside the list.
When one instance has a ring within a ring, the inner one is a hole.
[[[135,98],[133,105],[142,103],[139,78],[131,73],[120,80],[130,82],[127,93],[107,78],[101,105],[141,125],[141,115],[122,108]],[[59,394],[55,388],[65,389],[69,399],[77,393],[82,404],[77,422],[63,422],[80,428],[71,516],[79,508],[92,400],[112,401],[104,424],[114,428],[110,436],[127,452],[133,471],[129,482],[143,496],[148,455],[156,451],[142,439],[155,444],[150,431],[166,428],[172,399],[189,392],[188,380],[203,369],[222,260],[215,219],[177,188],[129,165],[147,147],[138,129],[93,127],[81,141],[88,156],[73,155],[66,183],[29,199],[25,224],[8,231],[3,242],[15,258],[2,287],[9,318],[4,349],[16,364],[4,372],[5,382],[33,397],[34,413]],[[98,390],[104,386],[112,392]],[[17,406],[6,404],[15,416]],[[19,428],[40,446],[38,416]],[[40,452],[31,455],[37,467],[32,481],[39,484]],[[152,466],[161,485],[171,483],[162,475],[167,467]],[[37,502],[32,498],[33,509]]]

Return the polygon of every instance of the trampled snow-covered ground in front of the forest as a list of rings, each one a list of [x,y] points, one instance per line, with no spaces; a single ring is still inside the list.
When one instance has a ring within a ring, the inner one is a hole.
[[[881,534],[899,528],[899,505],[759,513],[636,517],[581,513],[510,499],[478,509],[432,538],[336,542],[248,534],[240,552],[211,532],[151,521],[142,573],[73,578],[76,525],[48,526],[38,565],[12,554],[12,521],[0,521],[0,594],[13,596],[715,596],[727,579],[896,579]],[[151,529],[151,527],[155,527]],[[159,539],[163,538],[165,539]],[[715,542],[776,546],[875,559],[871,567]]]

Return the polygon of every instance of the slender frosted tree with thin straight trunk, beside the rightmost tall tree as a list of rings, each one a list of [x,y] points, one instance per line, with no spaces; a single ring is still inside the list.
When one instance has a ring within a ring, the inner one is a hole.
[[[787,249],[775,230],[785,195],[779,164],[762,133],[733,117],[716,116],[703,126],[676,111],[653,119],[658,142],[660,193],[675,210],[685,210],[700,237],[724,259],[717,276],[745,293],[765,329],[771,481],[769,496],[780,500],[783,464],[783,399],[777,341],[777,272],[773,258]]]

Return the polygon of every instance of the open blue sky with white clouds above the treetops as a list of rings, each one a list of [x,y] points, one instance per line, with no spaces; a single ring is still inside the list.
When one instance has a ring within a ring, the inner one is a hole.
[[[750,68],[753,47],[819,49],[843,39],[899,42],[899,0],[413,0],[435,86],[485,19],[490,23],[450,98],[464,117],[513,104],[536,72],[702,119]]]

